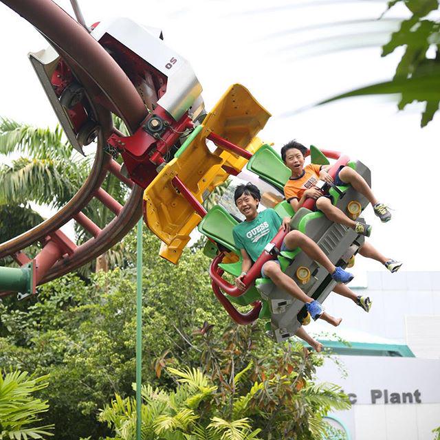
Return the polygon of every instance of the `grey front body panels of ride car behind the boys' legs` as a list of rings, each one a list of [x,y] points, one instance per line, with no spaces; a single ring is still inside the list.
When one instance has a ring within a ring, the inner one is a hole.
[[[371,172],[362,162],[355,161],[356,170],[366,182],[371,186]],[[347,205],[350,201],[356,200],[362,210],[369,204],[368,199],[349,186],[348,189],[336,203],[336,206],[347,212]],[[300,208],[292,217],[291,227],[298,229],[300,221],[311,211],[307,208]],[[357,221],[364,222],[358,218]],[[359,248],[364,244],[364,236],[358,235],[353,229],[344,225],[333,223],[327,217],[310,219],[306,223],[305,234],[318,243],[320,249],[329,257],[334,265],[346,267],[351,256],[356,254]],[[301,284],[296,278],[298,267],[308,267],[311,272],[311,278],[306,284]],[[310,297],[322,303],[333,287],[336,281],[333,281],[327,270],[312,261],[305,252],[300,252],[292,262],[285,273],[298,283],[301,289]],[[298,322],[298,312],[303,309],[304,303],[296,300],[293,296],[287,294],[283,289],[279,289],[274,283],[265,283],[257,287],[263,299],[267,300],[271,313],[272,331],[267,332],[276,342],[282,342],[291,336],[294,336],[301,326]]]

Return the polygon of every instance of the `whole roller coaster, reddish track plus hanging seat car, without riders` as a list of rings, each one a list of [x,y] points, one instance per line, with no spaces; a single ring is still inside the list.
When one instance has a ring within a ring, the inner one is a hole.
[[[212,257],[212,289],[236,322],[263,318],[274,340],[293,336],[307,320],[305,307],[260,278],[261,266],[278,259],[283,271],[320,302],[335,285],[331,276],[298,249],[280,252],[285,233],[278,232],[245,276],[245,292],[240,291],[222,277],[223,272],[232,276],[241,272],[240,252],[232,239],[237,221],[221,206],[206,212],[201,204],[245,165],[282,192],[289,170],[278,153],[256,136],[270,113],[245,87],[235,84],[206,114],[195,73],[188,61],[166,46],[160,30],[122,18],[88,28],[74,0],[78,22],[52,0],[2,1],[49,41],[50,47],[31,53],[30,61],[72,146],[84,154],[83,146],[96,140],[96,155],[88,179],[67,205],[0,245],[0,258],[12,256],[21,266],[0,267],[0,296],[35,294],[37,285],[96,258],[120,241],[143,211],[147,227],[162,241],[160,255],[171,263],[178,263],[197,226],[208,237],[205,252]],[[124,121],[130,135],[113,127],[112,113]],[[217,147],[214,151],[207,140]],[[336,159],[329,171],[333,177],[340,165],[348,164],[370,184],[370,171],[362,163],[313,146],[310,153],[311,162],[318,164]],[[114,160],[118,155],[123,169]],[[131,188],[124,206],[101,188],[107,173]],[[323,189],[353,219],[368,203],[351,187]],[[93,197],[115,214],[103,229],[82,212]],[[292,216],[292,228],[314,239],[336,265],[349,265],[363,243],[363,236],[314,212],[312,199],[296,213],[287,201],[274,209],[281,217]],[[82,245],[73,243],[60,230],[71,219],[93,238]],[[43,248],[30,258],[24,250],[36,242]],[[241,313],[232,303],[252,309]]]

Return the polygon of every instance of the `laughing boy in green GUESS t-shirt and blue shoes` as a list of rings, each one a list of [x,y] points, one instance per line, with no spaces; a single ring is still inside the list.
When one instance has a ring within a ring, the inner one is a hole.
[[[353,279],[353,275],[344,271],[342,267],[335,267],[318,245],[309,239],[307,235],[297,230],[291,231],[290,217],[281,219],[276,211],[271,208],[258,212],[257,208],[260,200],[261,194],[259,188],[255,185],[249,183],[237,186],[234,193],[234,201],[241,214],[246,217],[245,221],[235,225],[232,231],[236,247],[239,248],[241,256],[243,256],[241,266],[243,272],[235,281],[239,289],[245,289],[243,277],[280,228],[288,232],[281,250],[293,250],[299,247],[311,259],[325,267],[331,274],[331,277],[338,281],[338,283],[349,283]],[[261,268],[261,275],[265,278],[270,278],[275,285],[284,289],[296,299],[303,301],[307,311],[309,311],[310,316],[314,320],[322,318],[331,325],[337,326],[340,324],[342,319],[333,318],[333,316],[326,314],[318,301],[307,296],[295,281],[281,270],[278,260],[267,261]]]

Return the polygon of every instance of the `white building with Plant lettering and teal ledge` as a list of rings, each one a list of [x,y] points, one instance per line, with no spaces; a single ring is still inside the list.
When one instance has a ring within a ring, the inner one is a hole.
[[[318,339],[340,354],[347,371],[342,377],[331,361],[318,370],[352,402],[331,415],[333,423],[350,440],[431,440],[440,426],[440,272],[372,272],[355,280],[355,291],[373,300],[370,313],[331,294],[325,307],[344,318],[340,327],[307,328],[325,332]]]

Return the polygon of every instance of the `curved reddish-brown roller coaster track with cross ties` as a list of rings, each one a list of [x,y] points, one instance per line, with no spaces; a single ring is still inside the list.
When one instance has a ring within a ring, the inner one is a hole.
[[[53,217],[28,232],[0,245],[0,258],[12,256],[21,266],[34,263],[34,285],[47,283],[100,256],[133,228],[142,214],[143,189],[120,173],[120,165],[104,152],[113,128],[111,113],[118,115],[133,134],[146,118],[147,109],[134,85],[121,67],[90,34],[51,0],[1,0],[38,30],[85,87],[100,126],[94,164],[89,177],[76,195]],[[131,188],[124,206],[102,188],[112,173]],[[103,229],[82,212],[92,198],[100,200],[115,217]],[[76,245],[60,228],[74,219],[93,238]],[[38,255],[23,252],[32,243],[41,243]],[[12,292],[0,292],[0,296]]]

